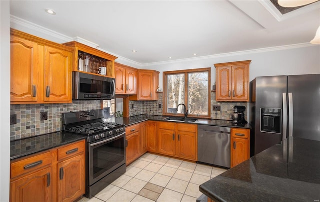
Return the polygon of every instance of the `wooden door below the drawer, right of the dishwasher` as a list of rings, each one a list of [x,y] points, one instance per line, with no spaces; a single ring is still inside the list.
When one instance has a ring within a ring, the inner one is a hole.
[[[236,166],[249,159],[248,139],[232,138],[231,144],[231,167]]]

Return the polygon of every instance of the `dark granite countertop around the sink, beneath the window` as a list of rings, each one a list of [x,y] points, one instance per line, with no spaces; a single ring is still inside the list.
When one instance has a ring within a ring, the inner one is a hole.
[[[125,126],[133,125],[146,120],[153,121],[168,121],[164,120],[168,116],[158,116],[158,115],[136,115],[130,116],[128,118],[115,118],[116,123],[123,123]],[[231,120],[220,120],[220,119],[198,119],[195,122],[180,122],[180,121],[168,121],[175,123],[190,123],[190,124],[202,124],[202,125],[212,125],[212,126],[225,126],[225,127],[236,127],[236,128],[251,128],[249,124],[235,125]]]

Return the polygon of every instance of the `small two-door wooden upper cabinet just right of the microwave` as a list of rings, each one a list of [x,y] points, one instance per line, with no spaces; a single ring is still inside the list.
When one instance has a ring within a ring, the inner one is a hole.
[[[115,93],[136,94],[137,69],[123,64],[116,63],[115,67]]]

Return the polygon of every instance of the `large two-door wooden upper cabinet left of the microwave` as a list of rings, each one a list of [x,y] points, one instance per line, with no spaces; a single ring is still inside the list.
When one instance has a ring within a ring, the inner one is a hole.
[[[68,103],[73,49],[10,29],[11,104]]]

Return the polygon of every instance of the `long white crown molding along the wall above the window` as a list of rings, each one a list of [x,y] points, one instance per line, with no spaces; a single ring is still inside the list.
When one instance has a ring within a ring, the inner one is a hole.
[[[177,60],[167,60],[167,61],[163,61],[163,62],[150,62],[150,63],[143,63],[141,65],[142,65],[142,67],[145,67],[145,66],[152,66],[152,65],[159,65],[159,64],[162,65],[162,64],[177,63],[177,62],[190,62],[190,61],[196,61],[196,60],[214,59],[214,58],[219,58],[219,57],[230,57],[230,56],[236,56],[236,55],[245,55],[245,54],[254,54],[254,53],[270,52],[270,51],[277,51],[277,50],[286,50],[286,49],[309,47],[309,46],[315,46],[315,45],[316,44],[311,44],[311,43],[297,43],[297,44],[291,44],[291,45],[273,46],[273,47],[258,48],[258,49],[244,50],[244,51],[235,51],[235,52],[220,53],[220,54],[200,56],[200,57],[183,58],[183,59],[177,59]]]

